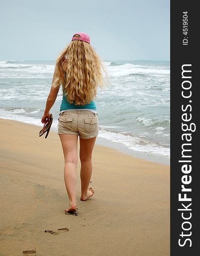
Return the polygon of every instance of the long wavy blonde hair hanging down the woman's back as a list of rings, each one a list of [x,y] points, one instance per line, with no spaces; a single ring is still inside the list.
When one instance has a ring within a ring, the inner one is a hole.
[[[87,42],[73,40],[56,60],[52,87],[62,84],[63,95],[70,104],[89,104],[96,98],[97,87],[105,85],[101,68],[109,84],[107,72],[93,47]]]

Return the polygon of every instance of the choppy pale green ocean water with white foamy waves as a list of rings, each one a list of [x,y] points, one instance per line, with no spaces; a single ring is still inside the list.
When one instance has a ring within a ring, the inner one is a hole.
[[[110,86],[95,100],[99,137],[129,150],[170,156],[170,63],[104,61]],[[55,61],[0,61],[0,118],[40,125]],[[58,125],[60,89],[51,109]]]

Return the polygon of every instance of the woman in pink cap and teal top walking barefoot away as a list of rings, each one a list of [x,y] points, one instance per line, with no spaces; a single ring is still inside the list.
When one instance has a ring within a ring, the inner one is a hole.
[[[77,141],[80,142],[81,201],[93,196],[90,187],[92,175],[92,152],[99,133],[98,113],[93,99],[97,87],[103,87],[101,68],[104,67],[90,45],[90,37],[78,32],[70,44],[58,56],[52,86],[46,100],[42,123],[49,120],[49,111],[62,85],[63,98],[58,118],[58,135],[64,153],[64,182],[70,207],[65,212],[76,210],[76,166],[78,160]],[[107,73],[104,70],[107,78]]]

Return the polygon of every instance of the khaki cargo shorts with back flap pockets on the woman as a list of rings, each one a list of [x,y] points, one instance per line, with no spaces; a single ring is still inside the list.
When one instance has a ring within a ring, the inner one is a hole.
[[[91,139],[99,134],[98,114],[87,110],[70,110],[59,114],[58,135],[75,134]]]

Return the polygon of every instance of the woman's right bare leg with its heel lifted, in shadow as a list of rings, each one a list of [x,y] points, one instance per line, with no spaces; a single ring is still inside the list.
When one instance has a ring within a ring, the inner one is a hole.
[[[81,201],[86,201],[88,198],[93,196],[94,190],[88,189],[90,184],[90,178],[92,176],[92,152],[96,137],[88,140],[80,138],[80,160],[81,160]]]

